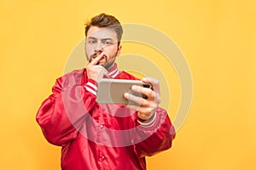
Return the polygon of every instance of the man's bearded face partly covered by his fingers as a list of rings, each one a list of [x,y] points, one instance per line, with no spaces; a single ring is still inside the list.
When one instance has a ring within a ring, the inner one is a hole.
[[[107,70],[113,66],[115,58],[121,51],[121,45],[118,47],[116,32],[108,27],[91,26],[87,32],[85,43],[85,54],[88,61],[90,62],[97,55],[104,53],[105,55],[98,65],[104,66]]]

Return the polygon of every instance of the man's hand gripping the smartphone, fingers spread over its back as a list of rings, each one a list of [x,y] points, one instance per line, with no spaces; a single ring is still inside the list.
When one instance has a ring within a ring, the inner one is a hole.
[[[125,93],[125,99],[137,103],[137,105],[127,105],[127,107],[137,111],[137,116],[140,119],[148,120],[151,116],[154,115],[154,111],[160,104],[160,84],[158,80],[151,77],[144,77],[143,82],[151,83],[153,89],[143,88],[140,86],[132,86],[131,90],[139,94],[146,95],[148,99],[143,99],[129,93]]]

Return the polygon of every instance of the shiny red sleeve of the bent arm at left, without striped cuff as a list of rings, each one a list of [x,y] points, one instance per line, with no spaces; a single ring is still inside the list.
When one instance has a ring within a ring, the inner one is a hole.
[[[36,120],[49,143],[63,146],[77,137],[96,97],[75,77],[58,78],[52,92],[40,106]]]

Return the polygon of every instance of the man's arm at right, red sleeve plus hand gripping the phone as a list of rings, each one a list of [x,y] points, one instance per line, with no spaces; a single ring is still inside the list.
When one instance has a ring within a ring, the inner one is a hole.
[[[160,104],[159,82],[151,77],[143,78],[143,82],[151,83],[153,89],[139,86],[131,89],[146,95],[148,99],[132,94],[125,94],[125,98],[137,103],[137,105],[127,105],[137,111],[138,126],[134,138],[142,140],[135,145],[137,156],[152,156],[161,150],[171,148],[172,140],[175,138],[175,129],[167,112],[158,107]]]

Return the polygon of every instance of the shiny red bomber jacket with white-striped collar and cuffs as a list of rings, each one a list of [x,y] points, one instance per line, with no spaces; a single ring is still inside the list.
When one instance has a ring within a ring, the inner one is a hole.
[[[117,67],[116,79],[137,79]],[[51,144],[62,146],[61,169],[146,169],[145,156],[172,146],[175,130],[165,110],[146,122],[124,105],[96,103],[96,82],[86,69],[56,80],[38,110],[37,122]]]

